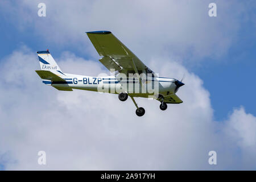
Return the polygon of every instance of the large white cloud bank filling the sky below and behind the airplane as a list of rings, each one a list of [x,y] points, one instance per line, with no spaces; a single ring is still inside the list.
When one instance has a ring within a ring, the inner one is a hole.
[[[105,72],[100,63],[70,52],[56,60],[64,72]],[[24,61],[26,67],[20,67]],[[5,168],[253,169],[255,116],[240,108],[228,121],[213,121],[203,81],[166,61],[150,64],[161,75],[186,74],[186,85],[177,93],[184,103],[161,111],[157,101],[137,98],[146,109],[139,118],[131,100],[120,102],[117,95],[61,92],[44,85],[34,72],[36,54],[26,47],[14,51],[0,68],[5,85],[0,88],[0,155],[9,156]],[[37,163],[40,150],[46,151],[46,166]],[[210,150],[217,151],[217,166],[208,164]]]

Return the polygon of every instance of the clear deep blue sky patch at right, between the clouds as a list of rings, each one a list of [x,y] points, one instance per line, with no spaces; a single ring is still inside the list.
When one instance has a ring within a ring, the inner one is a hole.
[[[204,80],[210,91],[215,117],[226,117],[230,108],[243,105],[249,113],[256,113],[254,97],[256,77],[255,24],[245,24],[240,37],[228,53],[216,62],[201,63],[192,70]]]

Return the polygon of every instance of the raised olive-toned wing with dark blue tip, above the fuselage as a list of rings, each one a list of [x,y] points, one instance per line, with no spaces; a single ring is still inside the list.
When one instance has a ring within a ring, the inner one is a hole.
[[[93,46],[100,56],[99,61],[106,68],[126,73],[133,70],[136,73],[141,70],[149,70],[122,42],[110,31],[86,32]],[[151,71],[152,72],[152,71]]]

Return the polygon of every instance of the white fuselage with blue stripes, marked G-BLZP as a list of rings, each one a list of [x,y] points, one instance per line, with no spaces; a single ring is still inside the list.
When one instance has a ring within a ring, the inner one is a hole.
[[[92,77],[65,74],[65,81],[48,82],[57,88],[72,88],[80,90],[90,90],[94,92],[105,92],[119,94],[127,92],[130,96],[148,97],[157,94],[163,96],[175,93],[175,78],[167,77],[138,77],[118,78],[115,76]]]

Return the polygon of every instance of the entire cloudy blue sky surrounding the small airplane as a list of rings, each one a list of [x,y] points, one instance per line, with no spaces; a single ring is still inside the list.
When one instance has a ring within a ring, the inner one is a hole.
[[[255,12],[253,0],[1,0],[0,169],[255,170]],[[130,99],[44,85],[36,51],[47,48],[63,72],[108,73],[85,34],[95,30],[112,31],[160,76],[185,73],[184,103],[161,111],[137,98],[137,117]]]

